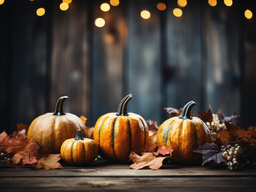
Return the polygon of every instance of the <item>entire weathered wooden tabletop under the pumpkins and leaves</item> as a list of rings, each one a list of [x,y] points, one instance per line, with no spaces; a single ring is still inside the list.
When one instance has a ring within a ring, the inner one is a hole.
[[[89,166],[34,170],[0,167],[0,191],[256,191],[255,166],[231,171],[216,166],[164,164],[159,170],[132,170],[130,164],[96,160]]]

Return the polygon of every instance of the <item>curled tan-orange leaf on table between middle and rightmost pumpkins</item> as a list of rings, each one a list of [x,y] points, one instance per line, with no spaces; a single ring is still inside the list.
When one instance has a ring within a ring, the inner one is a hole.
[[[141,152],[142,156],[136,154],[135,152],[131,152],[129,156],[129,161],[133,161],[134,163],[129,167],[134,170],[142,169],[148,167],[152,170],[158,170],[162,165],[164,159],[167,157],[156,157],[151,152]]]

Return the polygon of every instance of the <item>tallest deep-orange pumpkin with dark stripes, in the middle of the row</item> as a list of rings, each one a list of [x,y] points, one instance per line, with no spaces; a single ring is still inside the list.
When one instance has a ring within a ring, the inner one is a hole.
[[[130,152],[146,145],[148,125],[140,115],[127,113],[132,94],[120,102],[117,113],[106,113],[94,126],[94,141],[99,145],[99,155],[108,161],[128,161]]]

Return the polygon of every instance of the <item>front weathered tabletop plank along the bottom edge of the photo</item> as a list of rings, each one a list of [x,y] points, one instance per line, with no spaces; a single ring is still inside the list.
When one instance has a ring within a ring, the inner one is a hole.
[[[242,191],[256,187],[255,177],[147,178],[29,177],[1,178],[1,189],[10,191]]]

